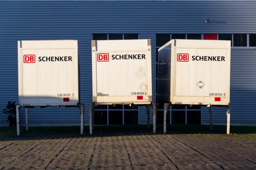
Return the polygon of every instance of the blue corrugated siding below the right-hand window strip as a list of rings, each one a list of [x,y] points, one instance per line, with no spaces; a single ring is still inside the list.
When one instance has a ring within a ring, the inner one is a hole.
[[[231,50],[230,122],[256,123],[256,49]],[[226,123],[226,108],[213,108],[213,123]],[[203,122],[210,122],[209,108],[203,108]]]

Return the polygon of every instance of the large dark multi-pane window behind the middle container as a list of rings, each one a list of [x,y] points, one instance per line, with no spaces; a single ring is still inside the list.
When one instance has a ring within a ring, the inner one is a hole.
[[[139,39],[139,34],[93,34],[93,40]],[[137,105],[102,105],[95,108],[95,125],[138,124],[139,107]]]

